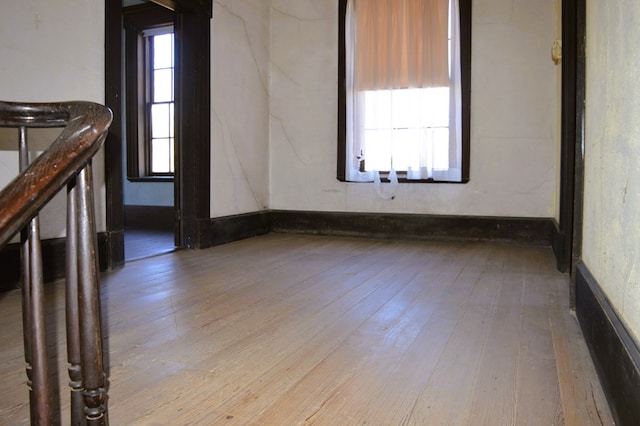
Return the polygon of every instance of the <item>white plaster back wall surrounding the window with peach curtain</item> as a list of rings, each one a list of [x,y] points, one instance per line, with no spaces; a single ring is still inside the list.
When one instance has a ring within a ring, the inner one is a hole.
[[[473,2],[471,182],[394,200],[336,180],[337,0],[271,5],[271,208],[557,215],[556,0]]]

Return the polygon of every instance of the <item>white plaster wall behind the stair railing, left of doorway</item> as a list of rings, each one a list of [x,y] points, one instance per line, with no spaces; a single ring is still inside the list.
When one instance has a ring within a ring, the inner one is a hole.
[[[0,99],[104,101],[104,3],[96,0],[0,0]],[[17,142],[3,141],[0,187],[17,173]],[[96,211],[104,229],[104,160],[94,161]],[[44,238],[64,235],[65,201],[43,214]]]

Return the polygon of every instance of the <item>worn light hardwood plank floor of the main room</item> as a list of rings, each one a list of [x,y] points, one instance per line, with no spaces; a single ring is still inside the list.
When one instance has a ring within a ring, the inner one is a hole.
[[[271,234],[138,260],[102,278],[110,421],[613,424],[568,293],[549,248],[486,243]],[[3,425],[28,424],[20,323],[0,294]]]

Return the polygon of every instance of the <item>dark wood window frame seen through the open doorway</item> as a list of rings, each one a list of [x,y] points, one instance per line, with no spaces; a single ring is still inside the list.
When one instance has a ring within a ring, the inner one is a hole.
[[[145,182],[170,182],[173,173],[151,173],[150,137],[145,84],[148,72],[147,52],[143,32],[172,26],[175,13],[153,3],[123,9],[125,27],[125,87],[127,179]],[[176,85],[176,90],[178,87]]]

